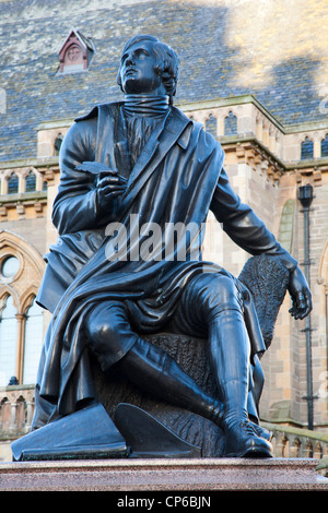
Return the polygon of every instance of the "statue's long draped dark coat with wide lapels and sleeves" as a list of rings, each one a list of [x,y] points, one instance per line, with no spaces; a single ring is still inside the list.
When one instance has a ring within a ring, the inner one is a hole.
[[[60,152],[60,184],[52,211],[60,237],[46,256],[47,270],[37,298],[52,312],[52,319],[36,389],[42,401],[56,405],[62,415],[72,413],[80,401],[94,395],[83,322],[96,302],[124,300],[137,315],[140,329],[159,331],[174,315],[178,297],[191,277],[204,271],[229,275],[201,258],[195,260],[191,255],[178,261],[176,247],[165,259],[115,259],[113,234],[106,235],[112,223],[126,228],[132,215],[140,226],[154,223],[163,231],[167,223],[202,227],[211,210],[227,235],[250,254],[277,255],[290,270],[296,265],[232,190],[220,143],[179,109],[169,109],[131,172],[122,104],[97,106],[75,121]],[[97,211],[98,166],[93,167],[92,163],[117,168],[128,179],[125,194],[113,201],[105,214]],[[194,249],[198,236],[192,241]],[[133,244],[131,235],[128,251]],[[265,346],[251,300],[246,299],[245,320],[253,353],[262,351]],[[122,347],[116,360],[129,348]]]

